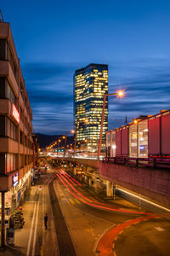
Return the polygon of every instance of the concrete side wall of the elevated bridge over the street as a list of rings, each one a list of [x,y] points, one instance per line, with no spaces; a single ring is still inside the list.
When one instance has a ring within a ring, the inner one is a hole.
[[[83,158],[54,158],[54,160],[66,160],[76,166],[93,167],[103,179],[170,207],[169,169],[110,164]]]

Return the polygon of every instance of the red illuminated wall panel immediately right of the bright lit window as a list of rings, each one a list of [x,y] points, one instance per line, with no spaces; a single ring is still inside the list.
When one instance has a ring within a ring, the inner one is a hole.
[[[148,120],[148,154],[160,154],[160,118]]]

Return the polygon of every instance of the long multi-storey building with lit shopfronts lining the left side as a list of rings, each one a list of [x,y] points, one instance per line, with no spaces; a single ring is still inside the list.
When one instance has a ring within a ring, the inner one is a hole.
[[[9,23],[1,21],[0,192],[1,205],[5,204],[5,208],[11,210],[19,205],[31,183],[33,167],[31,120],[31,105],[11,28]]]

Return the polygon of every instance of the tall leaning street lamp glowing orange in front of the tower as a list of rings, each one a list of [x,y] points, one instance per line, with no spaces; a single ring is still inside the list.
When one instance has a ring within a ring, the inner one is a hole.
[[[105,116],[105,98],[106,98],[106,96],[112,96],[112,95],[122,97],[122,96],[124,96],[124,91],[119,90],[116,93],[105,93],[104,102],[103,102],[103,109],[102,109],[102,116],[101,116],[100,133],[99,133],[98,159],[99,159],[99,155],[100,155],[100,151],[101,151],[101,143],[102,143],[102,133],[103,133],[104,116]]]

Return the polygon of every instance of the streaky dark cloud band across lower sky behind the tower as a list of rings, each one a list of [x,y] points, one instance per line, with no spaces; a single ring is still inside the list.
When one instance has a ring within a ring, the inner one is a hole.
[[[88,63],[87,63],[88,64]],[[109,90],[125,90],[125,97],[109,98],[109,129],[140,114],[169,109],[170,63],[156,59],[109,64]],[[37,132],[55,134],[73,125],[73,75],[79,63],[26,63],[23,73]]]

